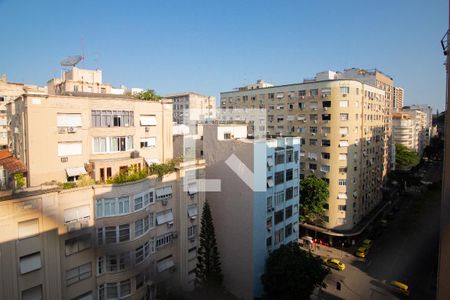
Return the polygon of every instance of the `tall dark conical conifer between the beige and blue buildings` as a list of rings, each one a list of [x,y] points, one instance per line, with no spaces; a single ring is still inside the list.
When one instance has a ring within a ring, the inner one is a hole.
[[[216,234],[208,202],[205,202],[203,206],[195,277],[195,284],[200,289],[217,291],[222,286],[222,268],[220,266]]]

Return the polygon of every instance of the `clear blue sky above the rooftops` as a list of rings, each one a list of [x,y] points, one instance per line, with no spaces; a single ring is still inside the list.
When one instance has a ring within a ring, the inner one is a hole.
[[[44,85],[80,54],[115,86],[221,91],[378,68],[406,104],[445,103],[446,0],[0,0],[0,73]]]

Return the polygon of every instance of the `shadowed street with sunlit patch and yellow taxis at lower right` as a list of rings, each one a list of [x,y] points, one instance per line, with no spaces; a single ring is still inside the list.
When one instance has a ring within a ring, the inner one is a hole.
[[[440,174],[440,166],[430,166],[424,179],[436,181]],[[402,299],[383,283],[391,280],[409,286],[408,299],[435,299],[441,193],[440,187],[422,189],[402,197],[400,210],[374,240],[366,259],[348,249],[321,246],[316,254],[341,259],[346,269],[332,270],[318,299]]]

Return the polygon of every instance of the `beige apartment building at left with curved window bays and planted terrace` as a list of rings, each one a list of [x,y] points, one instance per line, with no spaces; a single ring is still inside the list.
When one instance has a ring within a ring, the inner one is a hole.
[[[173,158],[172,103],[64,89],[8,104],[11,150],[28,187],[0,202],[0,298],[154,299],[159,287],[192,288],[203,162],[108,181]],[[96,183],[55,184],[85,174]]]

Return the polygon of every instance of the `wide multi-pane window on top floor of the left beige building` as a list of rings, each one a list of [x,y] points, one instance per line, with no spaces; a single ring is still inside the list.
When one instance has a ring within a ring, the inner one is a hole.
[[[134,112],[127,110],[92,110],[92,127],[134,126]]]

